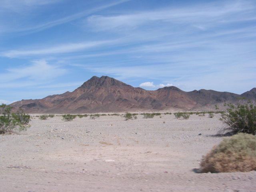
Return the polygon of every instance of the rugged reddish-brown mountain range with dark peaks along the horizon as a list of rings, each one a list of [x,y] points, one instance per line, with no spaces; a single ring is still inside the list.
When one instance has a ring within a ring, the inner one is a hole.
[[[184,92],[174,86],[148,91],[108,76],[93,76],[73,92],[11,104],[27,113],[94,113],[157,110],[191,110],[238,98],[256,100],[256,88],[238,95],[214,90]]]

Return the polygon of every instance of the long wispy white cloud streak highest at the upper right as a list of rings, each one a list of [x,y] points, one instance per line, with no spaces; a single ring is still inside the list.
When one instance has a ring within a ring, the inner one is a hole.
[[[218,2],[218,4],[204,3],[187,8],[165,8],[133,14],[113,16],[92,15],[87,18],[89,26],[95,30],[134,30],[152,22],[187,24],[200,30],[206,30],[214,25],[228,22],[255,20],[255,5],[250,1]],[[248,12],[250,14],[248,14]],[[243,17],[244,16],[244,17]],[[232,18],[230,20],[230,18]]]

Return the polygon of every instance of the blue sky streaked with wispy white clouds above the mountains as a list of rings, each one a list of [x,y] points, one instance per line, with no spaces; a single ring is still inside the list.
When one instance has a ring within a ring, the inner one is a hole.
[[[92,76],[147,90],[256,87],[255,0],[0,0],[0,102]]]

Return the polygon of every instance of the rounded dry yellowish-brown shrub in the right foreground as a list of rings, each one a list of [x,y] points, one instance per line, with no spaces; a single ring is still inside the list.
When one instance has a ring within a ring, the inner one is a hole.
[[[203,156],[201,172],[248,172],[256,170],[256,136],[239,133],[225,138]]]

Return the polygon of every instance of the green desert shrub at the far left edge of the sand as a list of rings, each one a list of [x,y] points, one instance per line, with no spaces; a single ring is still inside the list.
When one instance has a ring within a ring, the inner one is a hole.
[[[29,125],[31,116],[18,110],[15,113],[11,112],[12,107],[6,104],[0,105],[0,134],[14,132],[14,130],[22,131],[26,130]]]

